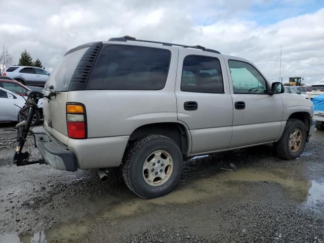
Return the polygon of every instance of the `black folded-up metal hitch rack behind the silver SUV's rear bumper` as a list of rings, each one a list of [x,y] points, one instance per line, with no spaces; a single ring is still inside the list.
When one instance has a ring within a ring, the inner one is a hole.
[[[22,152],[22,149],[25,145],[26,138],[28,133],[31,133],[34,137],[34,142],[35,142],[35,136],[31,130],[29,130],[32,117],[34,115],[34,112],[37,107],[38,100],[41,98],[44,98],[44,94],[41,92],[35,92],[35,91],[28,91],[27,92],[27,101],[25,104],[25,117],[23,121],[18,123],[16,125],[17,129],[17,147],[16,147],[16,152],[14,154],[14,164],[17,166],[26,166],[26,165],[31,165],[31,164],[45,164],[45,161],[43,159],[37,159],[33,161],[29,161],[29,152]],[[28,111],[28,112],[27,112]],[[36,147],[36,143],[34,143],[34,146]]]

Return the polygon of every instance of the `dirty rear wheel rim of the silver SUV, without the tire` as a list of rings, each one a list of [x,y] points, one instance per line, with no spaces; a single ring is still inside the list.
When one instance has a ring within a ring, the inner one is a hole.
[[[165,150],[156,150],[148,155],[143,165],[144,181],[150,186],[166,183],[173,172],[173,159]]]

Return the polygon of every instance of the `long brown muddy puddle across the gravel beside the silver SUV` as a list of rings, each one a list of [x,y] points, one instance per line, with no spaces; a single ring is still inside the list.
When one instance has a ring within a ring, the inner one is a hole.
[[[203,175],[201,176],[203,177]],[[289,169],[243,168],[237,172],[215,172],[205,178],[185,180],[171,193],[154,199],[142,199],[127,194],[119,197],[115,204],[110,204],[105,210],[77,222],[58,225],[53,229],[34,232],[33,234],[6,234],[0,235],[0,242],[78,242],[93,231],[96,224],[103,222],[118,222],[123,218],[137,217],[150,214],[156,207],[165,207],[169,210],[170,204],[174,207],[194,203],[200,200],[217,197],[241,197],[245,183],[268,182],[279,184],[289,198],[296,203],[308,206],[324,200],[324,183],[300,179],[294,171]],[[264,186],[264,185],[263,185]],[[107,225],[107,231],[109,232]]]

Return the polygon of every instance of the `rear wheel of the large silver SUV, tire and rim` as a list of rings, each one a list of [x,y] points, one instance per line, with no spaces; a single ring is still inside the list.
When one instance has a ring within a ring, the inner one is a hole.
[[[172,163],[167,165],[170,161]],[[163,135],[148,135],[135,141],[125,152],[123,177],[126,185],[135,194],[143,198],[154,198],[167,194],[176,186],[182,173],[182,165],[182,152],[175,141]],[[144,169],[144,166],[148,169]],[[153,169],[154,174],[161,174],[153,175]],[[166,177],[161,179],[164,175]],[[149,181],[150,177],[155,179]]]

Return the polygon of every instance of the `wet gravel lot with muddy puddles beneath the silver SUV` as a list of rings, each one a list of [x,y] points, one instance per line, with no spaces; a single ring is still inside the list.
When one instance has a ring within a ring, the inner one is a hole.
[[[271,145],[189,159],[171,193],[147,200],[118,168],[101,182],[12,165],[12,126],[0,124],[0,242],[324,242],[324,132],[293,161]]]

